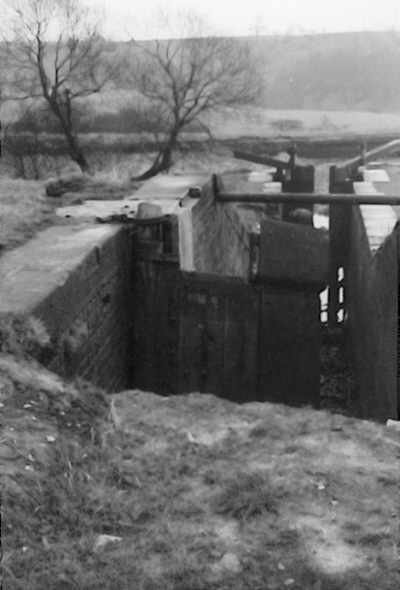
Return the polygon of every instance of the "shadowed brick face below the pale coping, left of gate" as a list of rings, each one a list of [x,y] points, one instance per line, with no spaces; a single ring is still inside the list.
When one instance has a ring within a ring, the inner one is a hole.
[[[110,392],[127,387],[131,360],[128,271],[126,232],[120,229],[75,269],[65,293],[55,293],[41,306],[44,321],[52,325],[53,314],[60,313],[59,298],[64,300],[65,315],[49,369],[65,377],[81,376]],[[72,297],[67,300],[69,294]]]

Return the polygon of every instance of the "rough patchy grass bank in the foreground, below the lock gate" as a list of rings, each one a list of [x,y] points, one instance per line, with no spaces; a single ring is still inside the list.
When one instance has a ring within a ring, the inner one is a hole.
[[[385,427],[204,394],[105,397],[30,360],[42,326],[4,326],[5,588],[397,588],[400,441]]]

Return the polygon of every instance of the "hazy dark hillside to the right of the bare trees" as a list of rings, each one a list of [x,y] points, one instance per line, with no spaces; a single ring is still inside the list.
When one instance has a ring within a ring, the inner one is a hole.
[[[400,112],[400,33],[253,37],[269,109]]]

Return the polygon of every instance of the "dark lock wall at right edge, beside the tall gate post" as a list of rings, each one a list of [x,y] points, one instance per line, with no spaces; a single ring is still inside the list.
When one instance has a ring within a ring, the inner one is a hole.
[[[398,227],[371,252],[359,207],[353,207],[346,302],[355,372],[355,411],[362,418],[398,418]]]

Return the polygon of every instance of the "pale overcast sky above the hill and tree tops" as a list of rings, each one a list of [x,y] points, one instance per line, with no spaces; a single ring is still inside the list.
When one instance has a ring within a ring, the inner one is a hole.
[[[217,34],[269,35],[400,30],[400,0],[85,0],[106,15],[105,36],[165,36],[160,11],[195,12]]]

